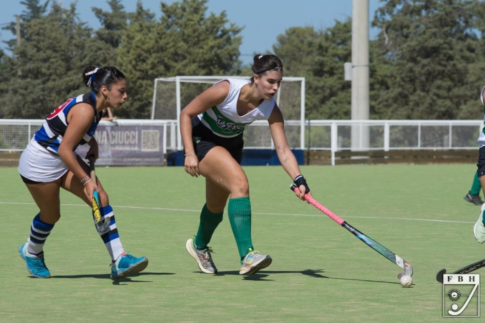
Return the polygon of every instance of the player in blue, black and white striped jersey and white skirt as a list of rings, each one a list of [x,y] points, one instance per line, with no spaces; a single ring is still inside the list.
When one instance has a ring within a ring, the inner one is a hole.
[[[110,227],[98,232],[112,259],[111,278],[126,277],[146,268],[148,259],[129,255],[121,244],[113,208],[108,194],[97,180],[89,176],[89,167],[75,150],[88,144],[85,156],[98,157],[94,137],[104,108],[119,109],[127,99],[126,78],[117,68],[86,66],[82,73],[90,92],[68,99],[55,108],[35,132],[20,156],[18,172],[39,208],[31,224],[27,243],[19,247],[20,257],[34,277],[50,277],[44,261],[44,244],[54,224],[59,221],[60,188],[78,196],[92,206],[93,193],[99,193],[103,220],[110,218]],[[82,239],[78,239],[82,241]]]

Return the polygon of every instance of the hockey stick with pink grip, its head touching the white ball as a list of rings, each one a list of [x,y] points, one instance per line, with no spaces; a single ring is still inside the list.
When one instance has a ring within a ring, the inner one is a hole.
[[[298,187],[295,185],[291,185],[290,189],[292,191],[296,191]],[[390,251],[388,248],[385,246],[381,245],[371,237],[365,235],[364,233],[358,231],[356,228],[348,224],[346,221],[342,220],[338,215],[324,207],[322,204],[317,202],[315,199],[313,199],[311,196],[308,194],[305,194],[305,200],[307,200],[308,203],[322,211],[325,215],[330,217],[332,220],[337,222],[340,226],[344,227],[348,231],[352,232],[357,238],[359,238],[362,242],[364,242],[367,246],[370,246],[372,249],[386,257],[389,261],[394,262],[396,265],[401,267],[404,270],[404,273],[401,273],[398,275],[398,278],[400,279],[403,275],[408,275],[408,276],[413,276],[413,267],[411,264],[407,261],[405,261],[403,258],[399,257],[396,255],[394,252]]]

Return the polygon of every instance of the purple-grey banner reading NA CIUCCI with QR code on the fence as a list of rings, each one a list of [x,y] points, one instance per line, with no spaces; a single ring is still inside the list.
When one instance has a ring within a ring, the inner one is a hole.
[[[95,138],[99,146],[99,166],[162,166],[163,126],[157,125],[98,125]],[[88,145],[76,150],[82,158]]]

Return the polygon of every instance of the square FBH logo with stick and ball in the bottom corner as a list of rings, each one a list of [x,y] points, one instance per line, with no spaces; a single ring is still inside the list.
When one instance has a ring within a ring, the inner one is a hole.
[[[480,275],[443,275],[443,317],[480,317]]]

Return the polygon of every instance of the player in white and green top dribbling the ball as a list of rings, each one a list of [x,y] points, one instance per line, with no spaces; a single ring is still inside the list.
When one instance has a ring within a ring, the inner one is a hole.
[[[241,167],[242,133],[255,120],[268,120],[278,159],[299,187],[305,200],[308,185],[291,152],[283,116],[275,93],[283,79],[283,64],[275,55],[256,55],[250,79],[224,79],[199,94],[180,112],[180,132],[185,152],[185,171],[205,177],[206,204],[200,214],[197,234],[186,249],[200,270],[214,274],[217,269],[208,246],[212,233],[227,213],[241,257],[240,275],[252,275],[271,264],[269,255],[254,249],[251,240],[249,183]]]

